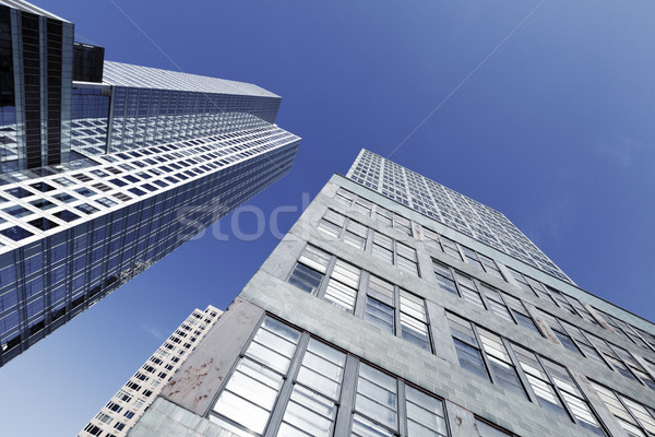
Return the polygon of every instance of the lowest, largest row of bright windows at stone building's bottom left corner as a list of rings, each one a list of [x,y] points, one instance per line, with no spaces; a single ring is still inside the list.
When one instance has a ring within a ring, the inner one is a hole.
[[[270,317],[210,420],[243,437],[449,436],[443,400]],[[478,422],[480,436],[509,435]]]

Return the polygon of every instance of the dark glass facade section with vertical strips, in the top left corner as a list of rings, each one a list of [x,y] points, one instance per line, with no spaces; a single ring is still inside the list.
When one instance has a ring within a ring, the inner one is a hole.
[[[60,164],[70,151],[73,24],[7,3],[0,3],[0,174]]]

